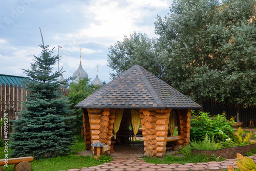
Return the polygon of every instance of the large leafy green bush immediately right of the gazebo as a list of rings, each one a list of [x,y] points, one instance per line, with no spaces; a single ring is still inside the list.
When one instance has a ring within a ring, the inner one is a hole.
[[[193,117],[191,118],[190,137],[194,140],[203,140],[205,135],[215,137],[217,142],[225,141],[234,132],[232,123],[230,123],[224,115],[217,115],[209,117],[205,112],[198,112],[195,116],[195,111],[191,111]]]

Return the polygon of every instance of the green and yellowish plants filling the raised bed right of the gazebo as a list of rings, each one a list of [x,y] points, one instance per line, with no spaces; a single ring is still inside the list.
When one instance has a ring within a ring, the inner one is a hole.
[[[189,146],[184,146],[181,153],[191,156],[191,148],[198,150],[216,150],[221,148],[244,146],[251,144],[252,132],[245,133],[241,127],[234,132],[232,122],[225,115],[209,117],[208,113],[199,112],[197,116],[192,111],[191,119],[191,141]],[[212,155],[208,160],[218,161],[218,156]]]

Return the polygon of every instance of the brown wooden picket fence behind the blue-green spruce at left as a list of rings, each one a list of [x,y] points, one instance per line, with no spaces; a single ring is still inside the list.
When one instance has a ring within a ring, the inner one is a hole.
[[[61,95],[67,96],[69,94],[69,89],[61,88],[58,93]],[[18,112],[23,110],[22,101],[26,101],[25,95],[27,94],[27,89],[25,84],[13,84],[5,85],[4,83],[0,85],[0,137],[1,139],[8,139],[9,134],[13,132],[13,126],[10,120],[18,119]],[[5,132],[4,128],[4,115],[8,115],[8,133]],[[7,134],[7,135],[5,135]]]

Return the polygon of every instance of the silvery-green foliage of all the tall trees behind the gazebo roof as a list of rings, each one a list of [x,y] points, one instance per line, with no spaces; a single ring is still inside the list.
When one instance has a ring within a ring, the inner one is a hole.
[[[250,0],[175,0],[157,16],[159,37],[117,41],[109,66],[118,75],[137,63],[197,102],[256,104],[255,8]]]

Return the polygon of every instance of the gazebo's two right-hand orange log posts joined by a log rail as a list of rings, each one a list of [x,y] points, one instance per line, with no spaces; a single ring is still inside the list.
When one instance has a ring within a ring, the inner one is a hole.
[[[167,137],[171,111],[172,109],[140,109],[144,156],[165,157],[167,142],[173,142],[175,151],[181,149],[183,145],[189,144],[191,110],[178,110],[177,122],[179,135]]]

